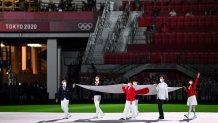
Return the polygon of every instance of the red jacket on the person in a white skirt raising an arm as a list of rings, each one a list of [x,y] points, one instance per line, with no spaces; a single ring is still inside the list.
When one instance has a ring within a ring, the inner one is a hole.
[[[185,92],[189,97],[193,95],[197,95],[196,89],[197,89],[198,80],[199,78],[197,77],[192,85],[190,85],[188,88],[184,88]]]

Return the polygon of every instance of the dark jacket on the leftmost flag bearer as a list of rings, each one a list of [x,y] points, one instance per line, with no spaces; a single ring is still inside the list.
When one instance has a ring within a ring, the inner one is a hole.
[[[71,99],[71,89],[70,87],[67,85],[66,89],[63,89],[63,86],[61,85],[59,88],[59,92],[58,92],[58,99],[59,100],[64,100],[64,98],[66,98],[67,100]]]

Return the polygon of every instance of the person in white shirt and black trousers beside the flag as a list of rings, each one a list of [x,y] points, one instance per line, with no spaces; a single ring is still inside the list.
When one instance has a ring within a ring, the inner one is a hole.
[[[160,83],[158,85],[155,84],[157,89],[157,102],[158,102],[158,111],[159,111],[159,119],[164,119],[163,113],[163,104],[165,100],[169,100],[168,98],[168,85],[164,82],[165,76],[160,75]]]

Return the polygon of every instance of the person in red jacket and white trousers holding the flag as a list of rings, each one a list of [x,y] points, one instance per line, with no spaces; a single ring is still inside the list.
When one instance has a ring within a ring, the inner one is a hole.
[[[128,117],[128,113],[131,110],[132,116],[131,119],[135,120],[136,117],[136,105],[135,105],[135,93],[136,90],[133,87],[132,81],[128,82],[128,86],[122,86],[123,92],[126,94],[126,104],[123,111],[123,117],[120,120],[126,120]]]

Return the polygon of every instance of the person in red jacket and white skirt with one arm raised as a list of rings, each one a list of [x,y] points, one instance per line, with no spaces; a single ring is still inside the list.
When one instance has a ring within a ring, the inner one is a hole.
[[[189,119],[189,114],[191,113],[191,111],[194,112],[193,118],[197,118],[195,114],[195,106],[197,105],[196,90],[197,90],[197,84],[198,84],[199,77],[200,77],[200,73],[198,73],[194,83],[193,83],[193,80],[190,80],[189,87],[183,87],[186,94],[188,95],[187,105],[189,106],[189,111],[188,111],[188,114],[184,115],[187,119]]]

